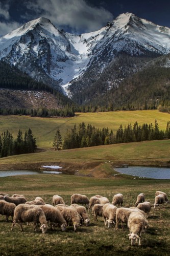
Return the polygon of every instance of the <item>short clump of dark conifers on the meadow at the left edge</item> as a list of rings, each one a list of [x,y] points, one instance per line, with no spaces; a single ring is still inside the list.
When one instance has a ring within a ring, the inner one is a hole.
[[[34,153],[36,148],[36,139],[30,128],[24,135],[19,130],[16,139],[8,130],[0,135],[0,157]]]

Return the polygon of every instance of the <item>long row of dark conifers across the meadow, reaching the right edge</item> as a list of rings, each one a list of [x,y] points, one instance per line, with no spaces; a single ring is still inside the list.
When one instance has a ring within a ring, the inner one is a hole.
[[[116,143],[139,142],[146,140],[161,140],[170,139],[170,121],[167,122],[165,132],[159,130],[157,120],[154,125],[152,123],[143,123],[139,125],[137,121],[132,125],[131,123],[123,127],[120,124],[118,130],[113,134],[108,128],[99,129],[91,124],[85,125],[84,122],[78,126],[76,124],[73,128],[67,131],[66,136],[62,140],[60,130],[54,138],[53,147],[55,150],[70,149],[80,147],[90,147],[99,145],[108,145]]]

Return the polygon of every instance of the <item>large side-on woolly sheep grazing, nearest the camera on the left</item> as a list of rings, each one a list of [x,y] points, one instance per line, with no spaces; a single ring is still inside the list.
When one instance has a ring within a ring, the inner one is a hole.
[[[48,228],[43,210],[37,205],[19,204],[15,207],[11,230],[13,230],[16,223],[19,223],[20,230],[23,231],[22,222],[34,222],[34,230],[37,228],[37,224],[40,223],[42,233],[45,233]]]

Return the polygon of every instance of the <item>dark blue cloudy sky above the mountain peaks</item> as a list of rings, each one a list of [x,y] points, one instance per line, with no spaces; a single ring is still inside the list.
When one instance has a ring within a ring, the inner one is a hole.
[[[126,12],[170,28],[169,0],[0,0],[0,36],[39,17],[67,32],[87,33]]]

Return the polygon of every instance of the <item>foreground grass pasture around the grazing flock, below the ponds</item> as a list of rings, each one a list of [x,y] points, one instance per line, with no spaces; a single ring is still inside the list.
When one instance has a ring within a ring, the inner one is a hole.
[[[168,180],[109,180],[77,177],[69,175],[31,175],[4,177],[0,180],[0,190],[10,195],[23,194],[33,200],[41,196],[46,203],[52,204],[53,195],[63,197],[70,204],[70,196],[74,193],[87,195],[89,198],[100,194],[112,197],[116,193],[124,195],[124,206],[134,206],[139,193],[153,205],[156,190],[163,190],[169,195]],[[11,231],[11,219],[5,222],[0,216],[0,255],[169,255],[170,251],[170,205],[161,209],[151,208],[148,222],[150,227],[142,233],[141,246],[131,246],[125,230],[108,229],[102,217],[94,222],[91,212],[89,227],[82,226],[77,232],[70,226],[61,232],[48,230],[34,232],[32,226],[23,225],[21,232],[16,224]]]

